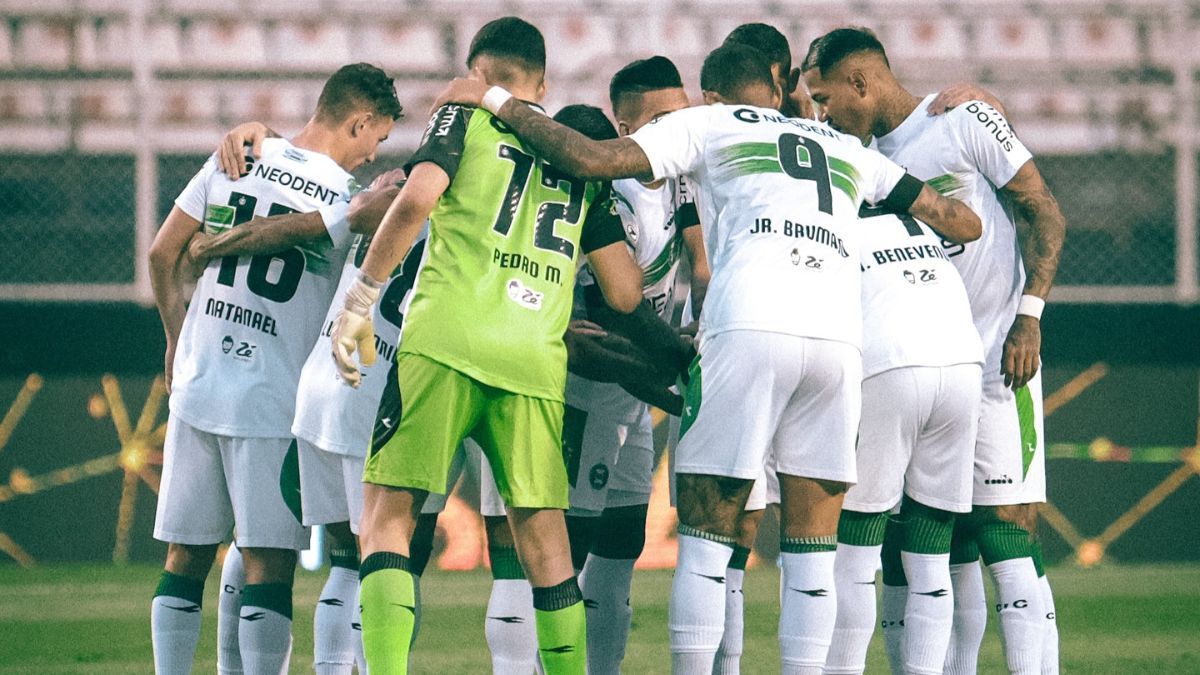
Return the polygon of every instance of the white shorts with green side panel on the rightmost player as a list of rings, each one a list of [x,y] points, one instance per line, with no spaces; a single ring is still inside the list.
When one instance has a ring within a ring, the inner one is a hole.
[[[976,440],[974,496],[979,506],[1046,501],[1042,371],[1021,392],[992,378],[983,384]]]

